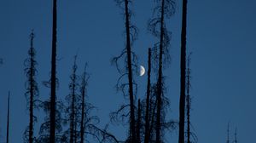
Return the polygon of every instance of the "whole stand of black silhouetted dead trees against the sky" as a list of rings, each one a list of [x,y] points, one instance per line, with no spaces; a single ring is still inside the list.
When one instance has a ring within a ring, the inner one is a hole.
[[[173,130],[178,133],[178,143],[195,143],[197,137],[191,128],[191,97],[190,97],[190,61],[191,53],[187,49],[187,0],[183,1],[182,7],[182,31],[180,37],[180,94],[179,94],[179,120],[174,121],[166,118],[169,106],[169,94],[166,93],[168,85],[165,83],[166,75],[163,74],[165,66],[170,64],[169,48],[171,43],[171,31],[167,29],[168,19],[175,14],[175,0],[155,0],[153,15],[148,20],[148,31],[156,37],[154,45],[148,48],[147,85],[146,96],[137,99],[137,82],[134,75],[137,73],[137,54],[133,44],[137,40],[136,21],[132,20],[133,0],[115,0],[122,14],[124,14],[125,48],[120,49],[120,54],[113,57],[112,64],[119,72],[116,89],[127,99],[126,103],[117,106],[116,111],[109,111],[109,119],[112,123],[128,124],[126,139],[120,140],[119,136],[109,132],[108,124],[102,128],[98,126],[100,118],[94,115],[95,106],[90,104],[87,97],[90,75],[87,72],[87,63],[83,66],[77,64],[78,55],[74,55],[73,66],[70,66],[69,93],[65,99],[59,99],[56,90],[62,77],[56,74],[58,51],[57,47],[57,0],[53,1],[52,15],[52,47],[50,78],[44,82],[49,88],[49,99],[40,99],[40,89],[37,82],[37,52],[34,41],[34,33],[30,34],[30,45],[27,58],[24,61],[26,76],[26,109],[29,112],[27,128],[24,129],[23,142],[26,143],[85,143],[85,142],[127,142],[127,143],[163,143],[165,136]],[[40,33],[37,33],[40,34]],[[188,52],[189,51],[189,52]],[[2,60],[1,60],[2,63]],[[1,64],[0,63],[0,64]],[[77,69],[83,68],[84,72],[78,73]],[[41,74],[41,73],[40,73]],[[178,75],[177,75],[178,76]],[[11,93],[9,93],[10,95]],[[9,143],[9,100],[8,98],[8,123],[6,128],[6,142]],[[39,109],[36,110],[35,109]],[[36,117],[35,112],[44,112],[44,117]],[[38,123],[38,118],[44,118],[43,123]],[[35,128],[39,132],[35,132]],[[3,127],[2,127],[3,129]],[[230,131],[228,127],[228,139]],[[235,140],[237,143],[237,140]]]

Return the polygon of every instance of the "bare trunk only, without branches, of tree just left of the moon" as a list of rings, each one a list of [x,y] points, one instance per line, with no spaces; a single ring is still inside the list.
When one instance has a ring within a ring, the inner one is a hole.
[[[128,66],[128,81],[129,81],[129,95],[130,95],[130,130],[131,130],[131,141],[136,142],[135,133],[135,115],[134,115],[134,101],[133,101],[133,81],[132,81],[132,69],[131,69],[131,38],[130,38],[130,20],[128,11],[128,0],[125,0],[125,30],[126,30],[126,52],[127,52],[127,66]]]

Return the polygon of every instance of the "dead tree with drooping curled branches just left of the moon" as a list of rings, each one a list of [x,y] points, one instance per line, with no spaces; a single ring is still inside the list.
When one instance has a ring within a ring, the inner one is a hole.
[[[122,90],[123,94],[125,94],[125,88],[128,86],[128,93],[129,93],[129,100],[130,104],[126,106],[121,106],[119,108],[119,112],[124,111],[126,107],[130,107],[129,112],[129,122],[130,122],[130,134],[128,138],[128,142],[136,142],[136,125],[135,125],[135,106],[134,106],[134,79],[133,79],[133,71],[135,70],[134,67],[136,66],[136,55],[131,50],[131,45],[133,41],[137,38],[137,28],[131,24],[131,9],[129,9],[129,4],[131,0],[115,0],[120,7],[124,6],[125,10],[125,49],[122,53],[118,56],[113,58],[113,63],[117,66],[121,77],[119,77],[119,81],[117,84],[118,89]],[[125,70],[122,71],[119,69],[118,62],[121,58],[125,60]],[[134,66],[134,67],[133,67]],[[128,83],[120,83],[124,77],[128,77]],[[118,113],[118,112],[116,112]],[[113,114],[112,114],[113,115]],[[117,115],[117,114],[116,114]],[[130,141],[129,141],[130,140]]]

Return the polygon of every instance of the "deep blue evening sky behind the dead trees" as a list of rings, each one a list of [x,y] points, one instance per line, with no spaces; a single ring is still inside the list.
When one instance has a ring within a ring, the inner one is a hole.
[[[177,13],[166,25],[172,31],[170,54],[172,61],[166,69],[167,96],[171,100],[168,118],[178,119],[179,51],[181,1]],[[51,50],[51,1],[0,1],[0,140],[5,139],[6,101],[11,91],[10,142],[20,142],[28,124],[26,112],[23,61],[29,48],[29,34],[34,29],[34,46],[38,51],[38,83],[40,97],[49,98],[49,89],[41,82],[49,79]],[[224,142],[227,123],[231,137],[238,129],[238,140],[249,142],[256,132],[256,9],[254,0],[189,1],[188,49],[192,54],[192,122],[199,143]],[[134,51],[139,63],[147,65],[147,49],[157,39],[147,31],[152,15],[152,1],[135,1],[133,23],[139,28]],[[79,72],[85,62],[91,74],[89,100],[98,107],[102,125],[108,114],[125,103],[116,94],[114,85],[118,72],[110,59],[124,48],[124,21],[113,0],[60,0],[58,2],[58,64],[60,79],[58,97],[68,94],[69,74],[73,55],[79,53]],[[144,96],[146,77],[137,77],[138,96]],[[42,111],[41,111],[42,112]],[[38,112],[38,117],[44,114]],[[38,124],[37,124],[38,126]],[[125,129],[110,126],[122,139]],[[177,131],[166,134],[166,140],[177,142]],[[3,142],[3,141],[2,141]],[[169,142],[169,141],[167,141]]]

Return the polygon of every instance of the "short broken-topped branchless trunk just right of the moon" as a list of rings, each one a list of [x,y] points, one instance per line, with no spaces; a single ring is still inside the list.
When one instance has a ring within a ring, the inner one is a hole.
[[[149,141],[149,98],[150,98],[150,74],[151,74],[151,49],[148,49],[148,84],[147,84],[147,99],[146,99],[146,117],[145,117],[145,135],[144,143]]]

